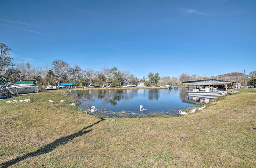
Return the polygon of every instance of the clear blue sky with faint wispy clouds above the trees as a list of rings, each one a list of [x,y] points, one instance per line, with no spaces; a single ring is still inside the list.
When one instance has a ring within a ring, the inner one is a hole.
[[[14,62],[218,75],[256,70],[255,0],[44,0],[0,3]]]

